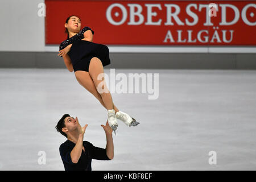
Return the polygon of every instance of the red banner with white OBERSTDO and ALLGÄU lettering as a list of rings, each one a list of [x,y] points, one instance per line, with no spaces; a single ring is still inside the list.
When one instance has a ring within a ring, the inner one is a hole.
[[[256,46],[256,1],[55,1],[46,3],[46,44],[67,39],[79,16],[93,42],[114,45]]]

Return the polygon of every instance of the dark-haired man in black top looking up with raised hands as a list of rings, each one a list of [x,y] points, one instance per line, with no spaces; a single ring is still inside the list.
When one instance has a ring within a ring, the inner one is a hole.
[[[67,140],[60,145],[60,156],[64,164],[65,171],[92,171],[92,159],[111,160],[114,158],[114,144],[112,138],[112,129],[106,122],[101,125],[106,133],[106,148],[93,146],[92,143],[84,141],[86,127],[80,126],[76,117],[64,114],[57,123],[55,129]]]

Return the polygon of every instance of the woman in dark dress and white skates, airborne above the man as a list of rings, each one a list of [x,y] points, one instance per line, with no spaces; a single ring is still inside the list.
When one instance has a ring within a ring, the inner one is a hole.
[[[101,105],[108,110],[108,123],[115,133],[117,130],[117,119],[123,121],[127,126],[137,126],[134,118],[119,111],[113,104],[112,96],[105,85],[104,77],[98,80],[98,75],[104,73],[104,66],[110,64],[109,48],[103,44],[93,43],[94,31],[90,27],[81,30],[79,17],[69,16],[65,22],[65,30],[68,38],[61,42],[58,56],[63,57],[64,63],[70,72],[75,71],[75,76],[80,85],[95,96]],[[98,92],[98,86],[105,90]]]

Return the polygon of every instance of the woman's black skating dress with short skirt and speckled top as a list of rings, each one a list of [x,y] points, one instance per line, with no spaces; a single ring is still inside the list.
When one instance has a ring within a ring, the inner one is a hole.
[[[109,48],[107,46],[89,42],[87,40],[81,40],[84,39],[84,32],[87,30],[91,30],[92,34],[94,34],[94,31],[91,28],[84,27],[78,34],[64,40],[60,44],[60,50],[67,47],[69,44],[72,44],[68,55],[71,58],[74,72],[89,72],[90,60],[93,57],[98,57],[104,67],[110,64]]]

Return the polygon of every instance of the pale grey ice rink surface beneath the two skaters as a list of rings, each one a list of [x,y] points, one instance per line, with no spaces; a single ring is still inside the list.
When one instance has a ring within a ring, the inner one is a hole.
[[[110,69],[105,69],[110,74]],[[119,110],[114,159],[93,170],[255,170],[256,71],[115,69],[159,73],[159,96],[112,93]],[[149,74],[150,76],[150,74]],[[154,79],[153,79],[154,80]],[[117,83],[118,81],[116,81]],[[63,114],[88,124],[84,140],[105,148],[107,111],[67,69],[0,69],[0,170],[64,170],[55,126]],[[40,151],[46,164],[40,163]],[[209,152],[217,164],[209,164]]]

